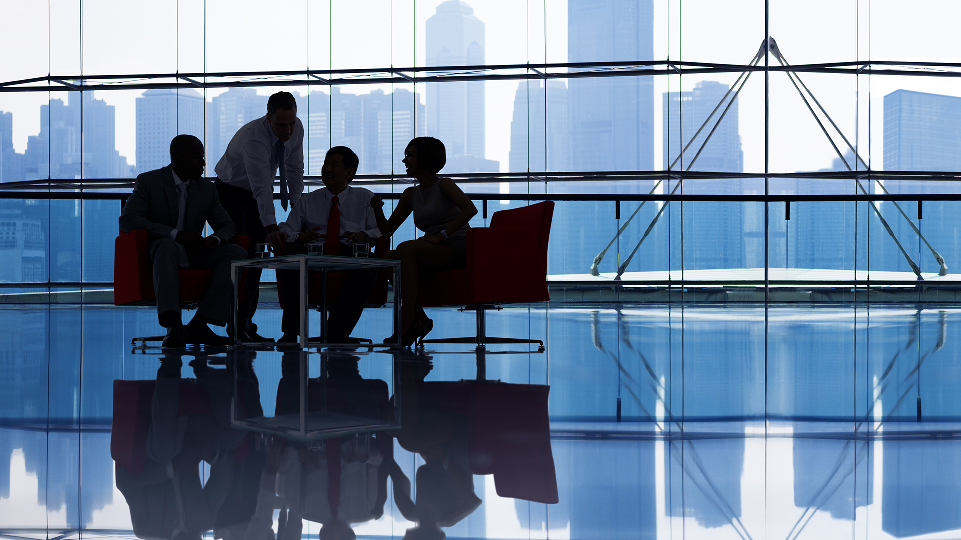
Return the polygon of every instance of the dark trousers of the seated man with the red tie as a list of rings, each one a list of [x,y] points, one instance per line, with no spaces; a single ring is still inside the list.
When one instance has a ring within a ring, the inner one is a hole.
[[[283,255],[302,255],[307,253],[304,244],[287,244]],[[337,303],[331,309],[331,316],[327,319],[329,334],[350,335],[363,314],[363,307],[374,284],[377,283],[377,269],[351,270],[344,272],[344,284],[337,296]],[[311,272],[313,274],[313,272]],[[300,333],[300,271],[278,270],[278,284],[283,294],[283,333]]]

